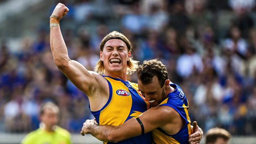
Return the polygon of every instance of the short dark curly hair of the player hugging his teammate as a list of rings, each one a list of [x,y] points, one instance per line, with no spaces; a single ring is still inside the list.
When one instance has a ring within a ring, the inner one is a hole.
[[[156,76],[160,86],[163,87],[165,80],[168,79],[167,69],[158,59],[143,61],[143,64],[139,65],[137,75],[139,80],[145,85],[152,83],[152,78]]]

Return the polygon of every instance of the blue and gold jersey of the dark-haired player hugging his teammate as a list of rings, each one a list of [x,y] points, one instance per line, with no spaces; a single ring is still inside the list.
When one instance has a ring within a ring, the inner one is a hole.
[[[182,89],[176,84],[170,84],[175,90],[168,94],[167,98],[158,106],[169,106],[177,111],[186,124],[175,135],[168,135],[161,128],[152,131],[156,144],[189,144],[191,135],[190,118],[188,115],[188,101]]]

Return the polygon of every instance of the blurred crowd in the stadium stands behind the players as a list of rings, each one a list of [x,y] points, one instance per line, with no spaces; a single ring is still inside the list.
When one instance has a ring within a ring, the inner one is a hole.
[[[135,60],[165,63],[204,133],[223,127],[232,144],[256,144],[255,0],[0,0],[1,144],[37,129],[45,101],[58,104],[59,126],[74,143],[101,143],[79,136],[93,118],[89,102],[50,52],[49,17],[58,2],[70,10],[60,25],[71,59],[93,70],[102,38],[121,31]],[[136,74],[128,79],[137,82]]]

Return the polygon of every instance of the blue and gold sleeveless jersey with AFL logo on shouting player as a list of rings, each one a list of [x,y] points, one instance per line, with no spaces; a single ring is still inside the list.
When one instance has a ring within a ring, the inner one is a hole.
[[[119,126],[130,118],[136,118],[144,111],[147,111],[149,103],[145,102],[139,93],[136,83],[109,76],[104,76],[104,78],[108,81],[109,86],[108,102],[99,111],[91,112],[98,124]],[[118,142],[118,144],[151,144],[151,142],[152,135],[150,132]],[[111,143],[108,142],[108,144]]]

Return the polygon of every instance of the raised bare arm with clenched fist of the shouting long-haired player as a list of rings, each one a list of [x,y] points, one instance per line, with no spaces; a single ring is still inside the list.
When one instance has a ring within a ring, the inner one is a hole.
[[[87,96],[91,96],[91,92],[96,89],[93,86],[96,86],[97,83],[102,83],[102,81],[99,81],[101,79],[97,79],[100,78],[98,74],[88,71],[77,61],[69,59],[67,47],[59,28],[59,20],[67,15],[68,11],[69,9],[64,4],[59,3],[50,17],[50,46],[52,55],[59,70],[61,70],[78,89],[85,92]]]

